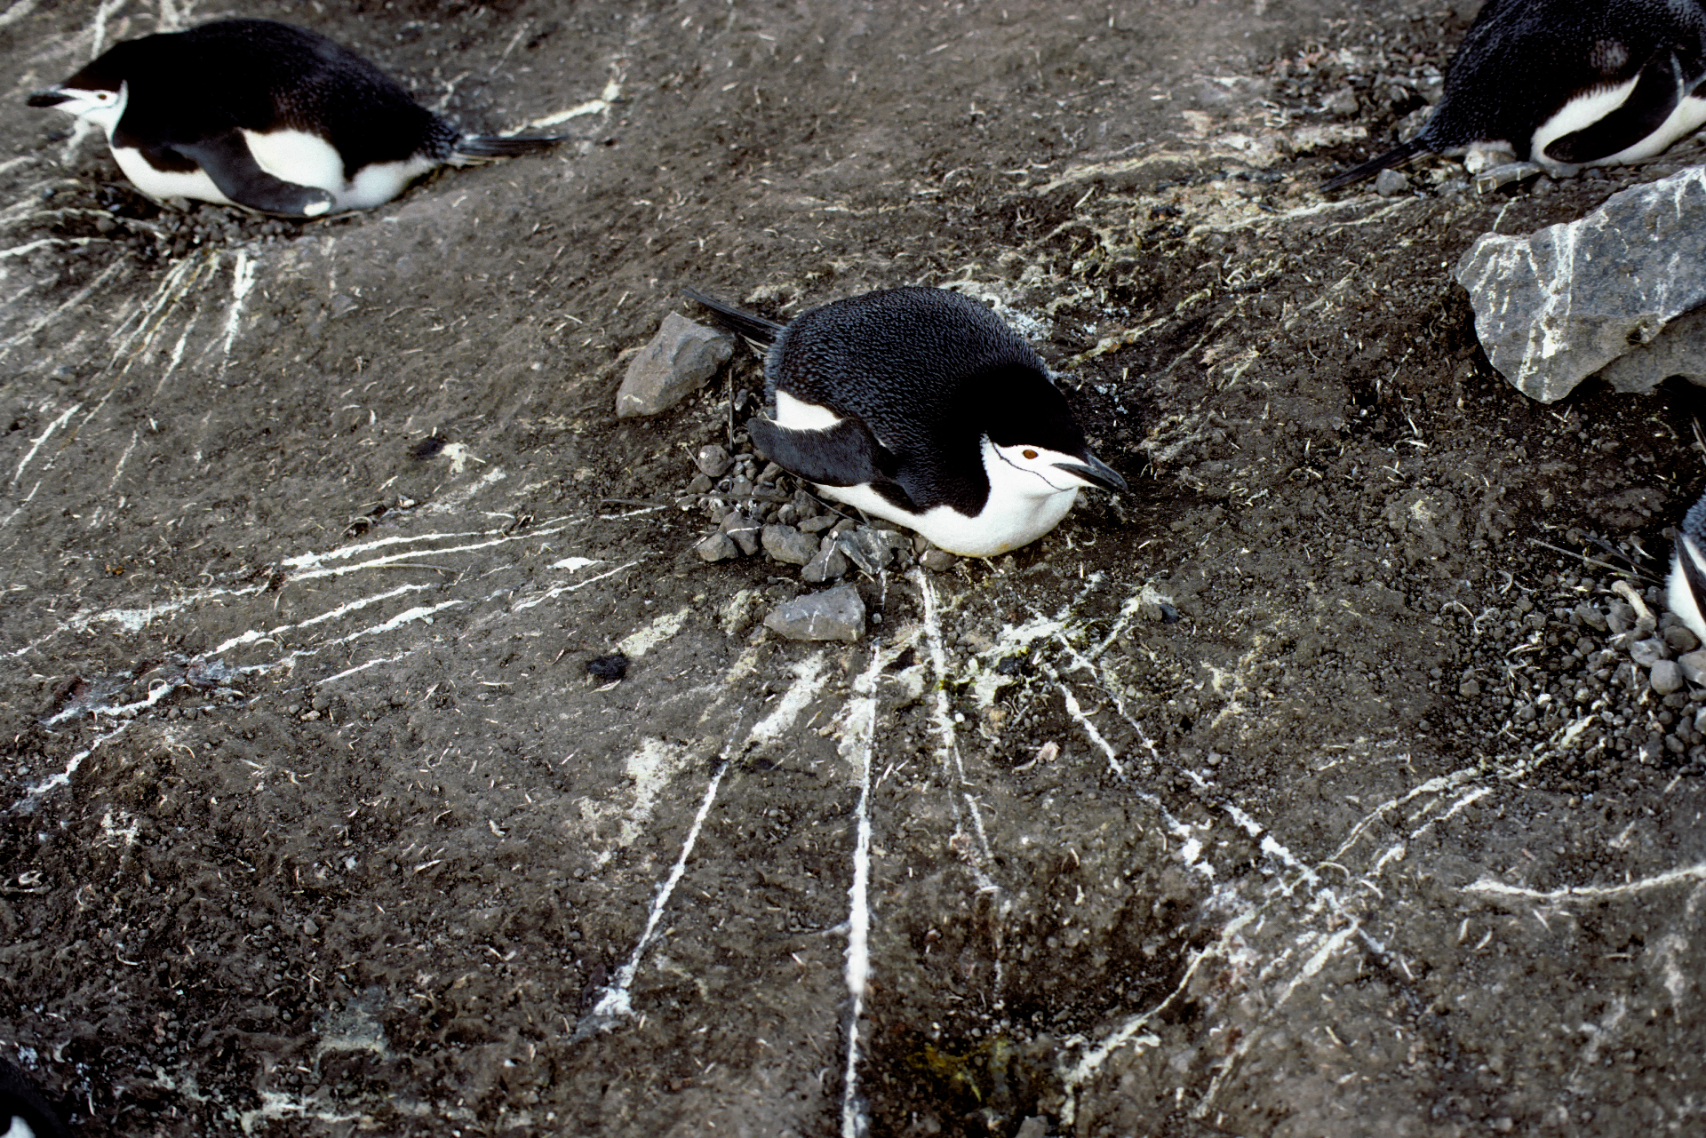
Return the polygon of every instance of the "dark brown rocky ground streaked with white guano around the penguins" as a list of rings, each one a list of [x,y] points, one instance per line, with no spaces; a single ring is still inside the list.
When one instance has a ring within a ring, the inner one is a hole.
[[[1472,15],[1336,0],[278,3],[572,133],[305,225],[22,107],[218,14],[0,12],[0,1046],[94,1133],[1703,1126],[1701,398],[1450,276],[1699,143],[1322,196]],[[1133,490],[957,561],[749,357],[618,420],[682,283],[984,297]]]

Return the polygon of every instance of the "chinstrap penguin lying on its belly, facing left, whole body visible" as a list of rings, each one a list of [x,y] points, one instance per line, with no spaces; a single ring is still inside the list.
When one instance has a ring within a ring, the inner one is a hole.
[[[445,162],[561,140],[464,136],[348,48],[276,20],[126,39],[29,106],[106,130],[145,195],[285,217],[367,210]]]

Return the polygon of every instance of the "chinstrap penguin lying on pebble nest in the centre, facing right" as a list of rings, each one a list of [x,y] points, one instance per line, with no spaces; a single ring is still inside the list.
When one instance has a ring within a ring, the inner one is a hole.
[[[1054,529],[1082,486],[1126,490],[1036,350],[969,297],[889,288],[783,326],[684,293],[768,348],[775,418],[747,423],[759,450],[949,553],[1017,549]]]

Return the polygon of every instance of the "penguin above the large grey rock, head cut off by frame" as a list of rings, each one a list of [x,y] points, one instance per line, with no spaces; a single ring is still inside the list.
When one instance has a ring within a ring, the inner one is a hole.
[[[1703,78],[1703,0],[1488,0],[1426,126],[1322,189],[1418,154],[1469,154],[1472,172],[1527,160],[1561,177],[1645,162],[1706,123]]]

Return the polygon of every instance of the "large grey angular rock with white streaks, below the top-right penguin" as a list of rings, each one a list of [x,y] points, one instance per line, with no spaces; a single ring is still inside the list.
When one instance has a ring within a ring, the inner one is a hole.
[[[1527,237],[1483,234],[1455,276],[1493,367],[1541,403],[1561,399],[1706,304],[1706,169],[1624,189]],[[1619,375],[1645,384],[1655,370],[1631,363]]]

